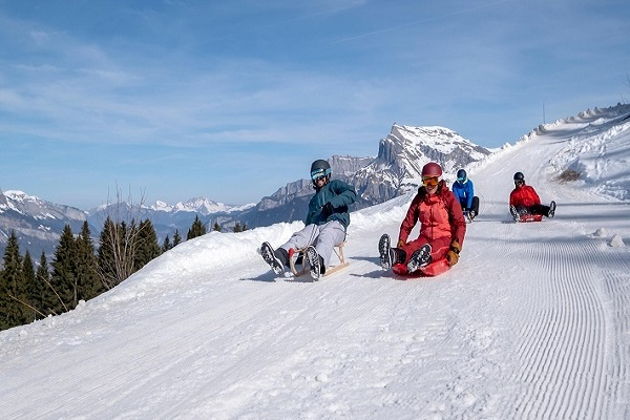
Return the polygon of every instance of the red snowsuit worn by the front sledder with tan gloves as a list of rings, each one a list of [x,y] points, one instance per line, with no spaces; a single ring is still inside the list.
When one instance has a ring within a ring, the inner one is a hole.
[[[407,243],[407,238],[416,223],[420,221],[420,235]],[[406,245],[400,247],[405,251],[405,265],[413,252],[425,244],[431,245],[431,258],[437,261],[446,256],[451,242],[457,240],[460,246],[466,234],[466,221],[455,195],[448,189],[444,181],[440,181],[435,194],[427,194],[424,187],[418,189],[407,210],[407,215],[400,225],[398,242]]]

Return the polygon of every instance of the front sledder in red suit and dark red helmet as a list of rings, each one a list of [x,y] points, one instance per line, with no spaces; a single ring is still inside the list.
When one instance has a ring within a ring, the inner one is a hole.
[[[413,273],[443,258],[449,266],[458,262],[466,222],[459,200],[446,182],[440,180],[441,176],[442,168],[435,162],[422,168],[423,186],[418,189],[400,225],[397,247],[390,248],[388,235],[383,235],[379,242],[383,268],[403,264],[409,273]],[[420,235],[409,241],[409,234],[418,222]]]

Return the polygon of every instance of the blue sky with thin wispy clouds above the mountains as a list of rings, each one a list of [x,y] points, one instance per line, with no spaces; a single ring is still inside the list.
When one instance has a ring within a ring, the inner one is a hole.
[[[393,122],[496,147],[628,102],[628,34],[626,0],[0,0],[0,188],[242,204]]]

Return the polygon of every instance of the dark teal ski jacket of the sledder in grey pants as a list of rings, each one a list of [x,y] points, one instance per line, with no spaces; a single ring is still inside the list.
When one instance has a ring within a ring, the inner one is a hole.
[[[350,214],[348,214],[348,206],[355,202],[357,193],[354,187],[346,184],[338,179],[333,179],[324,185],[308,203],[308,214],[304,224],[323,225],[324,223],[339,221],[345,228],[350,224]],[[333,206],[333,212],[330,216],[324,217],[322,209],[326,203]]]

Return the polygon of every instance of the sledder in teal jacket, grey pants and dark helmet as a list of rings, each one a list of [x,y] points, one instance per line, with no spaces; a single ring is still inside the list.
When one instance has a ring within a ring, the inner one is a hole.
[[[306,248],[305,258],[311,277],[318,279],[326,272],[333,248],[346,238],[350,225],[348,206],[355,202],[354,187],[340,180],[331,180],[330,164],[322,159],[311,165],[311,179],[315,195],[308,203],[304,229],[295,232],[288,242],[273,249],[263,242],[260,254],[276,274],[282,274],[289,266],[289,250]]]

